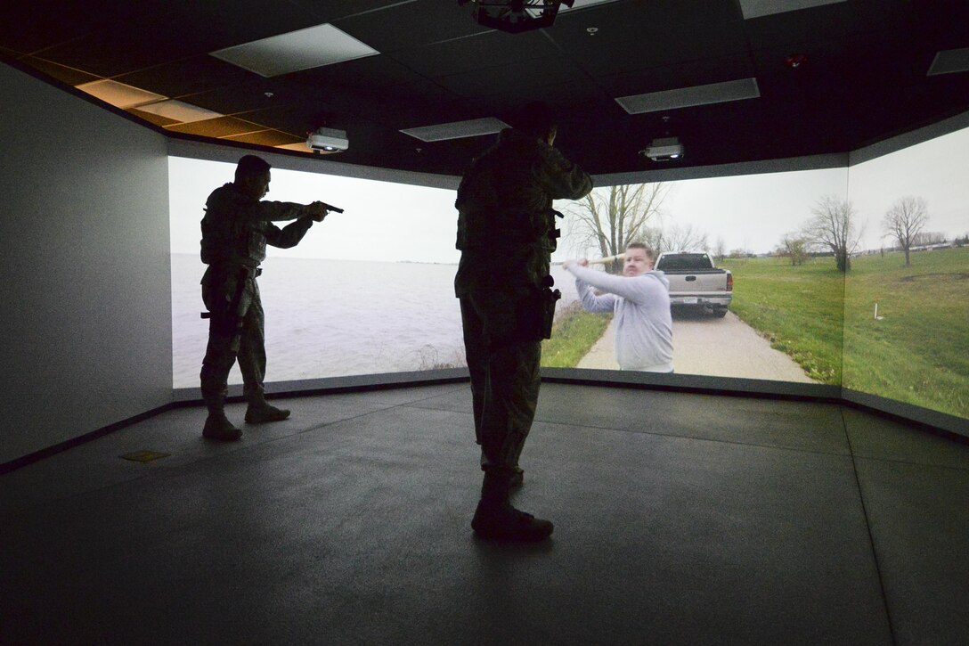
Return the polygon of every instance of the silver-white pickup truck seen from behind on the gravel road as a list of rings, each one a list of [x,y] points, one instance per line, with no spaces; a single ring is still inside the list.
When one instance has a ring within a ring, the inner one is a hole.
[[[714,316],[726,316],[734,296],[734,275],[717,269],[705,253],[661,253],[655,270],[670,280],[673,307],[709,307]]]

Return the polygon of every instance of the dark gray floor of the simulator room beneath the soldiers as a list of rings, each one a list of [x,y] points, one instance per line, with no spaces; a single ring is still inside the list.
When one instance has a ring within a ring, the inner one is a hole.
[[[555,533],[495,545],[466,384],[285,403],[234,444],[184,408],[0,476],[0,643],[969,643],[964,443],[545,384],[516,504]]]

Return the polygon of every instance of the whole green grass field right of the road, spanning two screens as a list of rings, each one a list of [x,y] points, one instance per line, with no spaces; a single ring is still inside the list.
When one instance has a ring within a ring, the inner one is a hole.
[[[722,266],[735,275],[731,308],[815,379],[969,417],[969,248],[904,263],[900,252],[853,258],[847,280],[828,258]]]

